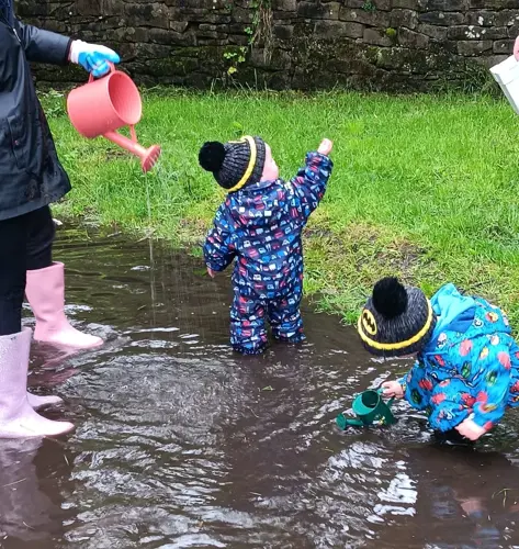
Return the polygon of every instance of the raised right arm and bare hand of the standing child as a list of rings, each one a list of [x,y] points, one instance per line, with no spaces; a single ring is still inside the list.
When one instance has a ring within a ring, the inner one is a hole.
[[[291,180],[304,219],[308,219],[311,213],[318,206],[325,195],[326,184],[331,175],[334,163],[328,157],[332,143],[323,139],[316,153],[306,155],[305,167],[300,169],[297,175]]]

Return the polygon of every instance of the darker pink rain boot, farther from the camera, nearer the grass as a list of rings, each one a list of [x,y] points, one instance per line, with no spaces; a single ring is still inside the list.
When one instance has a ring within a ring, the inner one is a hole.
[[[75,349],[103,344],[100,337],[82,334],[65,316],[65,266],[55,262],[45,269],[27,271],[25,287],[29,304],[36,317],[34,339]]]

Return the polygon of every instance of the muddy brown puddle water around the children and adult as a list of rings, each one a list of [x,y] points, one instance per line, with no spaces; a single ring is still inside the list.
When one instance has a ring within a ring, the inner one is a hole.
[[[390,429],[339,433],[351,395],[405,363],[308,307],[305,345],[239,358],[228,279],[153,251],[60,232],[68,314],[108,343],[34,347],[31,384],[77,430],[0,441],[1,547],[519,547],[517,414],[478,451],[433,445],[405,405]]]

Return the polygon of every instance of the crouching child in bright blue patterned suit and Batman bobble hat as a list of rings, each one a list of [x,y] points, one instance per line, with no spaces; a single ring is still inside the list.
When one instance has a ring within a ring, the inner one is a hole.
[[[506,314],[452,283],[429,301],[419,288],[379,280],[358,330],[373,355],[416,355],[406,376],[382,386],[425,411],[437,432],[477,440],[519,406],[519,346]]]

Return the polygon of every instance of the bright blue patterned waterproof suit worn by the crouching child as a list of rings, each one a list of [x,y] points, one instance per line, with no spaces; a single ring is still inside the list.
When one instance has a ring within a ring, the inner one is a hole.
[[[471,417],[489,430],[519,405],[519,347],[506,315],[449,283],[431,299],[437,324],[407,376],[405,399],[447,432]]]

